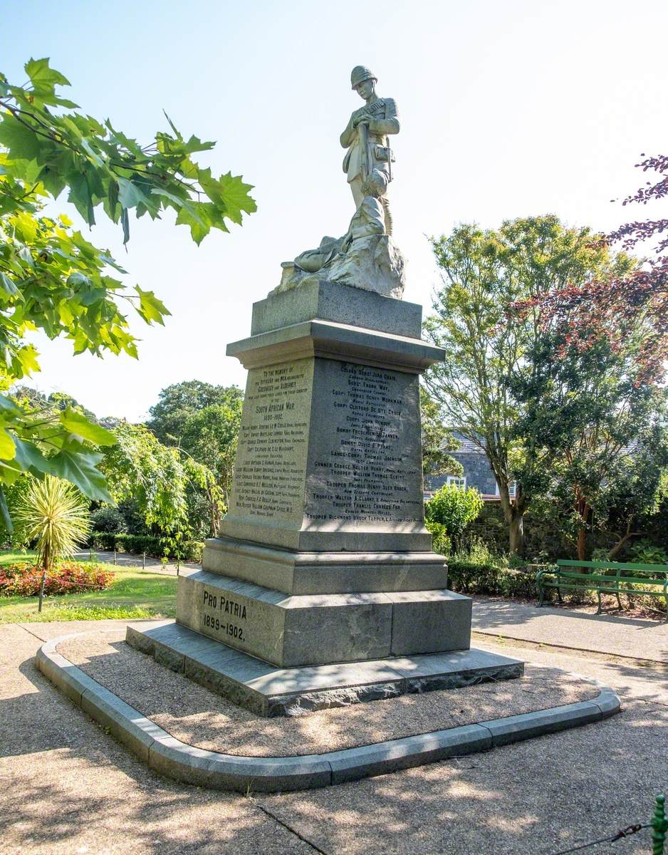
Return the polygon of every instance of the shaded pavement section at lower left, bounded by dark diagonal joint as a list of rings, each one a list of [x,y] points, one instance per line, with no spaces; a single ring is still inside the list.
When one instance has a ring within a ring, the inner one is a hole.
[[[249,799],[156,775],[52,687],[32,653],[3,693],[0,851],[313,852]]]

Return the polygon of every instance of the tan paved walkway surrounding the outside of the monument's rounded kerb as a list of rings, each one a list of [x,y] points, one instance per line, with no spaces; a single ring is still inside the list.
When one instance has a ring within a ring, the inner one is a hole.
[[[592,622],[572,612],[536,613],[530,606],[489,601],[479,602],[475,611],[478,631],[504,637],[502,645],[488,635],[483,644],[476,640],[477,646],[595,677],[617,691],[622,714],[340,787],[243,797],[156,775],[35,669],[42,640],[124,622],[3,625],[0,852],[549,855],[647,822],[655,793],[668,788],[665,670],[554,647],[515,648],[508,639],[511,630],[529,634],[531,628],[530,640],[540,643],[549,625],[572,644],[575,628],[586,625],[598,627],[601,646],[637,651],[637,645],[623,645],[622,626],[631,639],[653,638],[663,628],[634,621],[633,635],[631,622],[614,625],[612,617]],[[653,651],[665,646],[665,640],[651,643]],[[648,841],[645,831],[616,846],[620,855],[640,855],[649,851]]]

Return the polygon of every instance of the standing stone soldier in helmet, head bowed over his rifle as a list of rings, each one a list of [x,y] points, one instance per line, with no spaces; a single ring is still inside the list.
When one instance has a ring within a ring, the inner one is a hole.
[[[343,172],[353,192],[355,209],[367,197],[377,198],[384,211],[385,234],[392,233],[392,218],[387,199],[387,186],[392,180],[392,161],[389,134],[399,133],[399,118],[393,98],[376,94],[376,78],[362,65],[355,66],[350,83],[366,102],[350,116],[341,134],[341,144],[347,148],[343,159]]]

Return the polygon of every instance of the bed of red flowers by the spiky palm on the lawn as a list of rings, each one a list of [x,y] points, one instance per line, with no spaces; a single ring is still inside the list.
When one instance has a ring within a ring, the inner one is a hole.
[[[111,587],[114,574],[100,564],[62,561],[47,575],[44,593],[53,596],[63,593],[104,591]],[[42,568],[30,563],[9,564],[0,567],[0,596],[33,597],[42,585]]]

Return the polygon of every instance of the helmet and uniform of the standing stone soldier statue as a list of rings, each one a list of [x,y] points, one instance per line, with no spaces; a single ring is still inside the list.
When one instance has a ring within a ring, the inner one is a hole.
[[[368,68],[361,66],[354,68],[351,75],[353,89],[364,80],[376,80],[376,78]],[[368,128],[366,151],[360,125],[353,127],[355,118],[360,115],[370,116],[366,126]],[[343,158],[343,172],[348,177],[356,209],[360,207],[366,196],[362,186],[374,170],[384,177],[386,184],[390,183],[392,153],[388,136],[392,133],[399,133],[399,117],[395,100],[394,98],[376,98],[355,110],[350,116],[348,126],[341,134],[341,144],[344,148],[348,148]],[[381,196],[381,202],[386,211],[386,233],[390,234],[390,212],[385,193]]]

